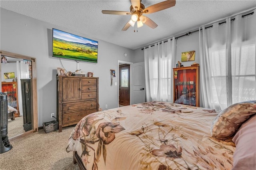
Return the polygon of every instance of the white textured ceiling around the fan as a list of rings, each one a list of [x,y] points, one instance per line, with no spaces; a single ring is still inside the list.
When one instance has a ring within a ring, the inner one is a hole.
[[[145,7],[164,0],[142,0]],[[102,14],[102,10],[130,12],[130,0],[1,0],[0,7],[92,38],[130,49],[166,40],[209,22],[256,7],[256,0],[176,0],[174,7],[148,18],[158,27],[146,25],[122,31],[130,16]],[[63,30],[65,31],[65,30]],[[72,33],[72,32],[71,32]]]

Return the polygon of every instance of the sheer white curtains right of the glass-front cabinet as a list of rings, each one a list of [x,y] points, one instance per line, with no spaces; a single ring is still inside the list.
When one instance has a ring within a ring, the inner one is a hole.
[[[256,99],[256,10],[225,22],[199,30],[202,107],[221,110]]]

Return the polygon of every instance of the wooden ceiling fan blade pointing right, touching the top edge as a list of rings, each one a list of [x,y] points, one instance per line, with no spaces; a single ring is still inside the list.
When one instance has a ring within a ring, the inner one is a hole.
[[[160,2],[145,8],[143,12],[144,14],[151,14],[153,12],[158,12],[158,11],[170,8],[172,6],[175,6],[175,4],[176,4],[176,0],[166,0],[164,2]]]

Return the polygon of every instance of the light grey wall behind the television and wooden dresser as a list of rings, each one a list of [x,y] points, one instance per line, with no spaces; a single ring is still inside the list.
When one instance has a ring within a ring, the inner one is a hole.
[[[133,62],[133,50],[3,8],[0,14],[0,49],[36,58],[39,126],[52,121],[50,115],[56,113],[56,67],[61,65],[58,58],[52,57],[52,28],[98,41],[98,63],[80,62],[79,69],[93,71],[94,77],[99,77],[99,104],[102,109],[106,104],[108,109],[117,106],[118,87],[110,86],[110,69],[118,69],[118,60]],[[124,53],[128,57],[124,57]],[[62,63],[66,70],[76,70],[76,61],[62,59]],[[115,77],[113,84],[116,81]]]

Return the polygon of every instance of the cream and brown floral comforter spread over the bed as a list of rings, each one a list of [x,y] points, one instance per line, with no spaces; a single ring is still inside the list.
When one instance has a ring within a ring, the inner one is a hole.
[[[220,111],[148,102],[84,117],[66,148],[87,170],[230,170],[235,145],[210,136]]]

